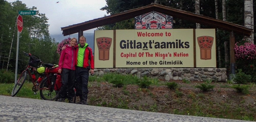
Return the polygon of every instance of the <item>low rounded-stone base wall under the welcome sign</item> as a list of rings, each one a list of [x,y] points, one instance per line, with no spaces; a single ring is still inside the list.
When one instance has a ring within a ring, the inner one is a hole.
[[[94,74],[103,76],[108,72],[123,75],[132,74],[140,77],[153,77],[170,80],[205,81],[206,79],[226,82],[226,68],[126,68],[126,69],[94,69]]]

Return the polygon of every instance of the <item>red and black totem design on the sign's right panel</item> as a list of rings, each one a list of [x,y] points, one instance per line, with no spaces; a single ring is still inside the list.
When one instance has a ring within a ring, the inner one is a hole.
[[[200,48],[200,58],[201,59],[211,59],[211,47],[213,43],[213,37],[211,36],[200,36],[197,37],[197,42]]]

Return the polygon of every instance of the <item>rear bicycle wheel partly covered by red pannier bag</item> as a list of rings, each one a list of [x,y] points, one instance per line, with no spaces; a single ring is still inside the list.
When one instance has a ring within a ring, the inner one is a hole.
[[[59,96],[58,92],[59,91],[55,91],[55,90],[50,89],[51,79],[52,79],[52,75],[49,76],[49,79],[46,77],[40,83],[39,88],[40,88],[40,97],[41,97],[41,99],[55,100],[56,98],[58,98],[58,96]]]

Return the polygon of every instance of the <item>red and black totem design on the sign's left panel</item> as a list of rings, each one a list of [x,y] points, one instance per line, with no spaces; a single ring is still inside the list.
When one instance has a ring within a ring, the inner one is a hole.
[[[112,38],[100,37],[96,39],[96,42],[99,49],[99,60],[109,60],[109,49]]]

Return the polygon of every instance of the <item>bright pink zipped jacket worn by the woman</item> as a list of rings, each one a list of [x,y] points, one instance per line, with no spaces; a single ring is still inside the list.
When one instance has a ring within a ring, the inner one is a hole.
[[[68,45],[66,49],[62,50],[60,54],[58,70],[62,68],[76,70],[76,65],[75,65],[76,55],[77,55],[76,48]]]

